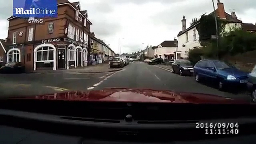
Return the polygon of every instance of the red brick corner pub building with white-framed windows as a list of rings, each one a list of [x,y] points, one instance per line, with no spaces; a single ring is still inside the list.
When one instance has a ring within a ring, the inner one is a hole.
[[[8,37],[0,40],[2,63],[22,62],[26,71],[87,66],[92,25],[88,12],[79,2],[57,2],[58,17],[45,18],[43,23],[29,24],[14,16],[7,19]]]

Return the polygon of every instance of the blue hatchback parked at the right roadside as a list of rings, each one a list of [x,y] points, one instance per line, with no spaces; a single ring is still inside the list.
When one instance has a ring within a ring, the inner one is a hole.
[[[248,81],[248,73],[243,72],[230,63],[219,60],[200,60],[194,66],[194,75],[197,82],[216,82],[218,89],[228,86],[244,86]]]

